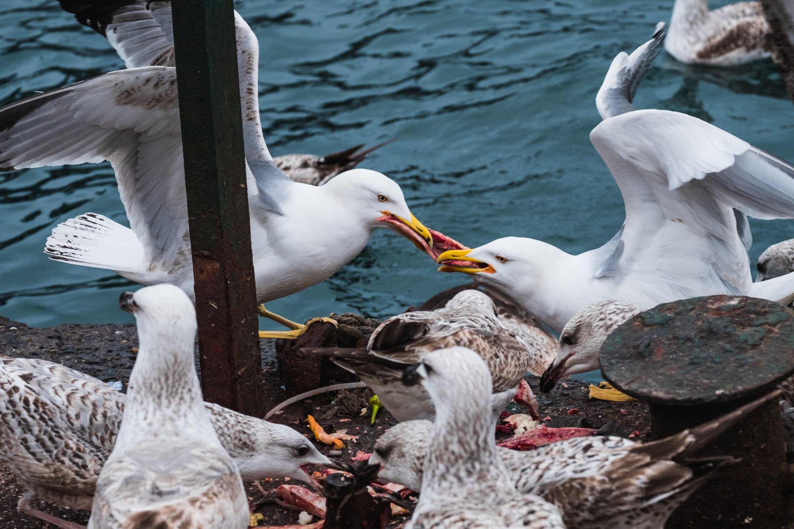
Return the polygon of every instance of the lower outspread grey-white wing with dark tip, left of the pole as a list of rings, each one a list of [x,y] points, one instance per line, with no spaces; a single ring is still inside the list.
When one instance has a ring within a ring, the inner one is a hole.
[[[102,160],[146,264],[170,268],[189,245],[175,68],[114,71],[0,109],[0,171]]]

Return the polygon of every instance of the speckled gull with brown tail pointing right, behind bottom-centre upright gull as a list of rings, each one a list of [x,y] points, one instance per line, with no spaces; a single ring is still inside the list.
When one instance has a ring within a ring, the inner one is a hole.
[[[499,446],[496,451],[518,492],[542,496],[556,505],[569,529],[661,529],[696,488],[735,461],[692,459],[693,454],[777,397],[770,394],[699,427],[646,444],[604,435],[569,438],[529,451]],[[425,452],[434,428],[424,420],[396,424],[378,439],[369,464],[380,465],[381,479],[422,492]]]

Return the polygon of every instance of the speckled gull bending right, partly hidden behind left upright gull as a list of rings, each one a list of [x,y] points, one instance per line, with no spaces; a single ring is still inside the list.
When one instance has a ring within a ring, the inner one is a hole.
[[[75,529],[71,522],[33,508],[32,500],[91,508],[99,470],[116,441],[125,395],[64,365],[2,355],[0,395],[6,397],[0,399],[0,462],[28,489],[19,510]],[[311,482],[307,465],[334,465],[290,427],[218,404],[204,406],[243,481],[287,476]]]

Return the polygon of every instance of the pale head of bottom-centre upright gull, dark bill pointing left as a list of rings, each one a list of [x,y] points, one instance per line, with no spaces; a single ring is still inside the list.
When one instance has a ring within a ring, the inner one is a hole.
[[[491,372],[482,357],[466,347],[427,353],[422,362],[403,371],[403,384],[422,384],[436,407],[436,418],[443,411],[468,414],[482,408],[491,413]]]

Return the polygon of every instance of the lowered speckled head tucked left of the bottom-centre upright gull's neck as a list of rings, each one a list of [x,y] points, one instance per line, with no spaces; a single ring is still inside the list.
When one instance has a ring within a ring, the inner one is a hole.
[[[375,443],[368,465],[380,466],[378,477],[421,492],[422,466],[433,423],[425,419],[397,423]]]

